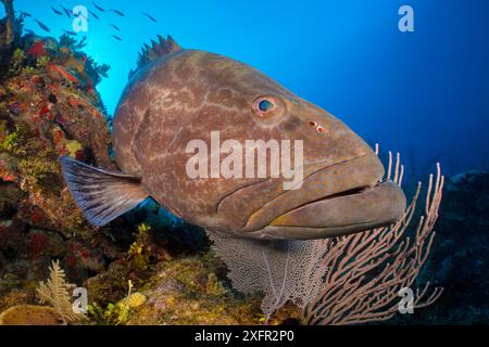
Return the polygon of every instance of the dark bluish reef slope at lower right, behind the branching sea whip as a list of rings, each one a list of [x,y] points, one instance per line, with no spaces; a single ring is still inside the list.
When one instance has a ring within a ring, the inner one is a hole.
[[[402,319],[417,324],[489,322],[488,211],[488,171],[467,171],[447,180],[436,242],[424,273],[444,291],[424,314]]]

